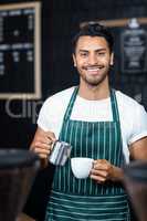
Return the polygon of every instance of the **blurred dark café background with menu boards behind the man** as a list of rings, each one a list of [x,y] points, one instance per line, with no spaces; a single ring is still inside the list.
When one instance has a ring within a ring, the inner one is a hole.
[[[1,148],[29,149],[44,99],[78,83],[71,40],[86,21],[112,29],[112,85],[147,109],[146,0],[0,0]]]

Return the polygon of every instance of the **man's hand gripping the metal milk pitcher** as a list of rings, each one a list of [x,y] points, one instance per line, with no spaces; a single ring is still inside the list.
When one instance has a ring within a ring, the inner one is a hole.
[[[55,140],[56,138],[54,133],[44,131],[43,129],[38,128],[33,141],[30,146],[30,150],[36,152],[40,158],[45,161],[48,156],[51,154],[53,143]]]

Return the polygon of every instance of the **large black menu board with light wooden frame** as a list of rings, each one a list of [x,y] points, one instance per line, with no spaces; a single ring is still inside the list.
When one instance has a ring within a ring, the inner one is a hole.
[[[0,6],[0,98],[41,97],[40,2]]]

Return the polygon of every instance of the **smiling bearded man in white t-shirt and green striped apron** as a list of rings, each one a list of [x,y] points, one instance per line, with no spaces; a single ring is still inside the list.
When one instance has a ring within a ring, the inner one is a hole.
[[[147,159],[147,114],[141,105],[111,88],[113,36],[88,23],[73,40],[73,61],[80,85],[46,99],[38,119],[31,149],[42,161],[56,139],[72,145],[71,157],[90,157],[87,179],[76,179],[71,161],[56,167],[45,221],[130,220],[122,166]],[[50,176],[50,175],[49,175]]]

